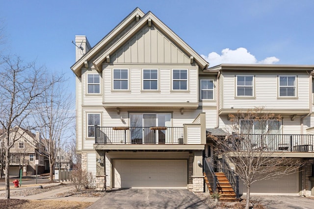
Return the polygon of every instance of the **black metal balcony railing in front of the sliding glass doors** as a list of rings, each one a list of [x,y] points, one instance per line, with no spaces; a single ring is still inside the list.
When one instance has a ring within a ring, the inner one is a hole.
[[[95,143],[184,144],[183,127],[100,127],[95,126]]]

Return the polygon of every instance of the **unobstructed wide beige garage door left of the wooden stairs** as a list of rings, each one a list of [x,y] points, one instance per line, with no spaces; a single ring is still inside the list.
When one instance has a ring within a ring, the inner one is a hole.
[[[114,160],[115,188],[186,188],[186,160]]]

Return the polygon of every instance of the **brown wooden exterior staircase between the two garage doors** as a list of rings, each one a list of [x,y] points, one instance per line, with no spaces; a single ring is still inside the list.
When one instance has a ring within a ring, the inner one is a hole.
[[[223,202],[240,202],[241,199],[240,198],[236,198],[236,195],[235,195],[235,191],[234,189],[232,188],[232,186],[230,185],[227,177],[225,176],[224,173],[221,173],[221,172],[215,172],[215,175],[217,176],[217,180],[218,180],[218,184],[217,184],[217,190],[218,192],[220,193],[220,201],[223,201]],[[206,176],[206,173],[204,173],[204,176],[205,176],[205,182],[206,182],[206,185],[209,189],[209,193],[212,194],[213,191],[212,189],[210,188],[210,185],[209,185],[209,180]]]

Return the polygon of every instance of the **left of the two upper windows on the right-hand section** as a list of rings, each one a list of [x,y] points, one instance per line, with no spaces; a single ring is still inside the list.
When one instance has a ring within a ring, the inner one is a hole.
[[[236,76],[236,96],[253,96],[253,75]]]

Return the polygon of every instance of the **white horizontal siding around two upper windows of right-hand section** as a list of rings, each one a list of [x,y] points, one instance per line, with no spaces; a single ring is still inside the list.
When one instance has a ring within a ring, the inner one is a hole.
[[[223,78],[223,108],[247,109],[261,106],[265,109],[280,110],[309,108],[308,75],[297,75],[297,98],[278,98],[278,74],[256,74],[254,79],[255,98],[236,98],[235,74],[225,74]]]

